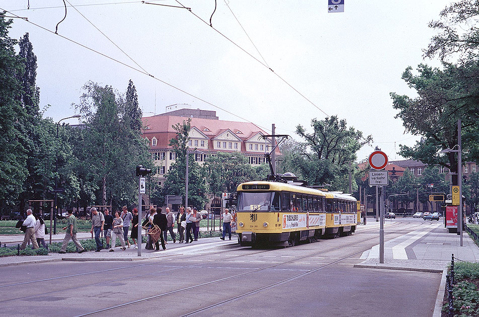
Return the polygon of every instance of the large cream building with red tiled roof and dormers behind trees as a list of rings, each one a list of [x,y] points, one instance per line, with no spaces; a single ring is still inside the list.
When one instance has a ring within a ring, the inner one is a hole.
[[[189,111],[189,112],[188,112]],[[212,114],[213,112],[213,114]],[[202,164],[209,155],[215,155],[217,152],[241,152],[251,165],[264,164],[264,153],[271,149],[271,139],[263,140],[261,135],[269,133],[264,132],[254,123],[240,121],[226,121],[215,119],[215,111],[209,111],[209,118],[205,118],[204,112],[201,117],[198,110],[180,109],[169,113],[143,117],[143,137],[148,139],[152,159],[157,167],[155,177],[162,184],[165,180],[164,174],[175,162],[175,153],[173,147],[168,145],[172,138],[176,137],[174,125],[191,119],[191,130],[189,133],[189,147],[198,149],[204,154],[195,154],[195,160]],[[188,115],[190,113],[190,115]],[[187,117],[187,118],[186,118]],[[216,117],[217,118],[217,117]],[[281,154],[276,149],[277,154]]]

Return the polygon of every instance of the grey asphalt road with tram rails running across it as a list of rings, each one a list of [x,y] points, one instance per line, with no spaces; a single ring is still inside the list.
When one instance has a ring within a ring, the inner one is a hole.
[[[427,226],[397,219],[385,239]],[[386,222],[387,223],[387,222]],[[377,228],[286,249],[1,267],[0,316],[431,316],[441,274],[353,268]],[[216,242],[216,240],[215,240]],[[161,255],[161,253],[159,253]]]

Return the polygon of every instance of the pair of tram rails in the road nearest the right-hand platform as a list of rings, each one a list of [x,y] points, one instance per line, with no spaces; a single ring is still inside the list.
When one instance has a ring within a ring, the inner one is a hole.
[[[401,222],[401,224],[404,224],[404,223]],[[410,224],[410,222],[407,222],[407,224]],[[417,227],[417,225],[413,226],[411,229],[414,230],[416,227]],[[371,228],[371,229],[373,229],[373,228]],[[388,233],[385,233],[385,235],[391,235],[391,234],[397,234],[397,233],[396,233],[396,232],[388,232]],[[347,238],[347,237],[345,237],[345,238]],[[371,239],[366,238],[366,239],[363,239],[363,240],[361,240],[361,241],[357,241],[356,243],[357,243],[357,244],[361,244],[361,243],[365,243],[365,242],[370,241],[370,240],[371,240]],[[307,245],[307,244],[306,244],[306,245]],[[305,245],[299,245],[299,246],[296,246],[295,248],[300,248],[301,246],[305,246]],[[201,312],[201,311],[204,311],[204,310],[207,310],[207,309],[211,309],[211,308],[214,308],[214,307],[223,305],[223,304],[225,304],[225,303],[228,303],[228,302],[237,300],[237,299],[239,299],[239,298],[242,298],[242,297],[245,297],[245,296],[248,296],[248,295],[251,295],[251,294],[260,292],[260,291],[262,291],[262,290],[266,290],[266,289],[269,289],[269,288],[272,288],[272,287],[275,287],[275,286],[278,286],[278,285],[287,283],[287,282],[289,282],[289,281],[291,281],[291,280],[294,280],[294,279],[303,277],[303,276],[305,276],[305,275],[314,273],[314,272],[316,272],[316,271],[318,271],[318,270],[320,270],[320,269],[322,269],[322,268],[325,268],[325,267],[327,267],[327,266],[330,266],[330,265],[339,263],[339,262],[344,261],[344,260],[346,260],[346,259],[348,259],[348,258],[354,257],[354,256],[356,256],[356,255],[358,255],[358,254],[362,254],[363,252],[365,252],[365,251],[367,251],[367,250],[370,250],[372,246],[373,246],[373,245],[368,246],[367,248],[362,249],[361,251],[356,251],[356,252],[354,252],[353,254],[350,254],[350,255],[345,256],[345,257],[340,258],[340,259],[336,259],[336,260],[334,260],[334,261],[332,261],[332,262],[330,262],[330,263],[321,265],[321,266],[319,266],[319,267],[316,267],[316,268],[314,268],[314,269],[308,270],[307,272],[303,272],[303,273],[301,273],[301,274],[295,275],[295,276],[290,277],[290,278],[288,278],[288,279],[284,279],[284,280],[281,280],[281,281],[276,282],[276,283],[271,283],[271,284],[269,284],[269,285],[266,285],[266,286],[257,288],[257,289],[255,289],[255,290],[246,292],[246,293],[241,294],[241,295],[238,295],[238,296],[234,296],[234,297],[232,297],[232,298],[230,298],[230,299],[221,301],[221,302],[219,302],[219,303],[215,303],[215,304],[210,305],[210,306],[208,306],[208,307],[203,307],[203,308],[201,308],[201,309],[198,309],[198,310],[189,312],[189,313],[185,314],[184,316],[191,315],[191,314],[196,314],[196,313],[199,313],[199,312]],[[84,317],[84,316],[95,315],[95,314],[99,314],[99,313],[106,312],[106,311],[109,311],[109,310],[119,309],[119,308],[122,308],[122,307],[125,307],[125,306],[129,306],[129,305],[140,304],[140,303],[143,303],[143,302],[146,302],[146,301],[150,301],[150,300],[153,300],[153,299],[157,299],[157,298],[166,297],[166,296],[169,296],[169,295],[174,295],[174,294],[178,294],[178,293],[181,293],[181,292],[191,291],[191,290],[194,290],[194,289],[198,289],[198,288],[200,288],[200,287],[212,285],[212,284],[215,284],[215,283],[221,283],[221,282],[224,282],[224,281],[229,281],[229,280],[232,280],[232,279],[236,279],[236,278],[240,278],[240,277],[243,277],[243,276],[246,276],[246,275],[250,275],[250,274],[253,274],[253,273],[257,273],[257,272],[260,272],[260,271],[263,271],[263,270],[268,270],[268,269],[271,269],[271,268],[276,268],[276,267],[278,267],[278,266],[282,266],[282,265],[285,265],[285,264],[291,264],[291,263],[294,263],[294,262],[297,262],[297,261],[301,261],[301,260],[306,259],[306,258],[314,257],[314,256],[317,256],[317,255],[322,255],[322,254],[325,254],[325,253],[328,253],[328,252],[331,252],[331,251],[335,251],[335,250],[338,250],[338,249],[342,249],[342,248],[344,248],[344,246],[341,245],[341,246],[338,246],[338,247],[335,247],[335,248],[330,248],[330,249],[328,249],[328,250],[321,250],[320,252],[315,252],[315,253],[312,253],[312,254],[308,254],[308,255],[306,255],[306,256],[304,256],[304,257],[300,257],[300,258],[294,258],[294,259],[292,259],[292,260],[290,260],[290,261],[286,261],[286,262],[282,262],[282,263],[278,263],[278,264],[269,265],[269,266],[266,266],[266,267],[263,267],[263,268],[254,269],[254,270],[249,271],[249,272],[245,272],[245,273],[241,273],[241,274],[236,274],[236,275],[224,277],[224,278],[217,279],[217,280],[213,280],[213,281],[209,281],[209,282],[205,282],[205,283],[200,283],[200,284],[197,284],[197,285],[192,285],[192,286],[184,287],[184,288],[181,288],[181,289],[177,289],[177,290],[174,290],[174,291],[165,292],[165,293],[158,294],[158,295],[153,295],[153,296],[148,296],[148,297],[144,297],[144,298],[132,300],[132,301],[129,301],[129,302],[125,302],[125,303],[118,304],[118,305],[114,305],[114,306],[102,308],[102,309],[99,309],[99,310],[87,312],[87,313],[84,313],[84,314],[80,314],[80,315],[77,315],[76,317]],[[270,250],[267,250],[267,251],[270,251]],[[218,261],[218,262],[226,262],[226,261],[227,261],[227,260],[222,260],[222,261]]]

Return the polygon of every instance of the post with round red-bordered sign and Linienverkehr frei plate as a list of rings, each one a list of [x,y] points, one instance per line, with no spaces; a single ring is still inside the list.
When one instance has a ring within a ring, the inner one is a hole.
[[[374,151],[369,155],[369,165],[375,171],[369,171],[369,185],[379,191],[379,263],[384,263],[384,185],[388,185],[387,171],[379,171],[387,165],[387,155],[383,151]]]

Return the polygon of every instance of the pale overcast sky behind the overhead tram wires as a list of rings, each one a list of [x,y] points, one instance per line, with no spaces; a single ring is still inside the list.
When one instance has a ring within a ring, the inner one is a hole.
[[[271,70],[209,26],[214,0],[180,1],[208,25],[185,9],[141,2],[120,4],[128,1],[69,0],[148,73],[247,121],[266,129],[275,123],[277,133],[297,138],[296,125],[310,129],[312,118],[325,117]],[[106,3],[110,5],[79,6]],[[155,3],[179,6],[173,0]],[[422,49],[434,34],[428,22],[437,19],[450,1],[346,0],[345,12],[335,14],[327,13],[327,0],[227,3],[265,61],[223,0],[218,0],[212,18],[214,28],[267,64],[326,114],[338,115],[365,135],[372,134],[372,146],[382,148],[389,160],[400,159],[395,154],[399,144],[413,145],[419,139],[403,134],[402,121],[394,119],[389,93],[414,96],[401,80],[406,66],[416,68],[421,62],[440,65],[437,60],[423,60]],[[54,32],[64,16],[63,2],[30,0],[31,9],[21,10],[27,4],[27,0],[3,0],[0,8]],[[55,6],[59,8],[33,9]],[[46,116],[55,121],[75,114],[71,104],[79,102],[86,82],[124,92],[129,79],[136,86],[145,116],[163,113],[168,105],[186,103],[216,110],[221,120],[243,121],[15,19],[10,36],[19,39],[25,32],[29,32],[38,58],[41,107],[50,104]],[[140,69],[70,6],[58,34]],[[364,146],[359,159],[366,159],[373,147]]]

